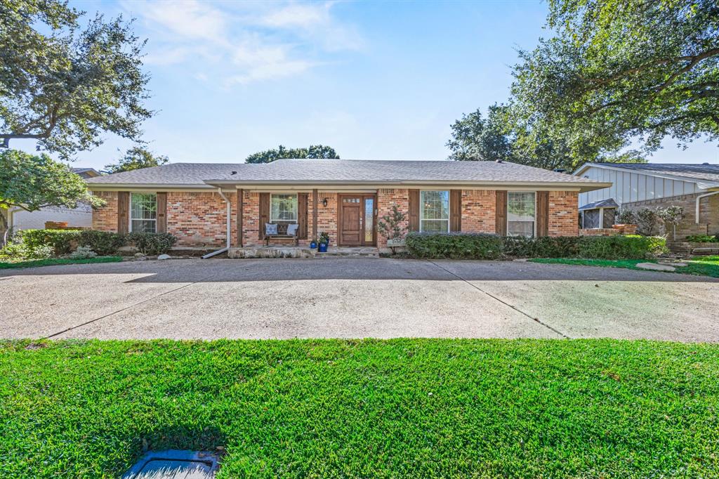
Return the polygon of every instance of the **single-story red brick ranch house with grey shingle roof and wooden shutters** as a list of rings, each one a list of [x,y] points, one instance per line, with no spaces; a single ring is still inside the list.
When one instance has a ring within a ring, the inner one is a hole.
[[[576,236],[579,194],[610,186],[515,163],[400,160],[173,163],[87,182],[107,202],[93,229],[257,247],[265,224],[289,223],[301,246],[326,232],[331,245],[380,249],[377,219],[395,204],[410,231]]]

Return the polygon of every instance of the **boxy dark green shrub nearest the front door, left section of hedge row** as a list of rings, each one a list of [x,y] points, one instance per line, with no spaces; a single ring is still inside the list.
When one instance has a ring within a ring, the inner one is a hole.
[[[405,245],[412,256],[422,258],[496,260],[503,256],[502,237],[495,234],[412,232]]]

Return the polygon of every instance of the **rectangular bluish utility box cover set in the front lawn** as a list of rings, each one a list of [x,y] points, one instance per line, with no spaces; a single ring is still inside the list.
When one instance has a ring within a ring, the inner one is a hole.
[[[150,451],[122,479],[211,479],[219,468],[219,457],[202,451]]]

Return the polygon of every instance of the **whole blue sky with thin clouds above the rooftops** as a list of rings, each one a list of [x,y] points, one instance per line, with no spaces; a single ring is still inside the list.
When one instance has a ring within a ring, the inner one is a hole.
[[[444,159],[449,125],[505,101],[516,48],[548,36],[540,1],[70,5],[137,19],[157,110],[145,140],[173,162],[318,143],[342,158]],[[101,168],[129,146],[108,136],[75,165]],[[718,160],[715,143],[680,150],[672,140],[651,158]]]

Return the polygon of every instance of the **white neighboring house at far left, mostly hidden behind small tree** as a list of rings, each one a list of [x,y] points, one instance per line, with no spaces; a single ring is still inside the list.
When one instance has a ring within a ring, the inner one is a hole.
[[[73,173],[85,179],[96,178],[100,175],[93,168],[73,168]],[[68,227],[90,228],[92,226],[92,209],[86,204],[78,204],[77,208],[47,206],[32,212],[14,208],[9,214],[9,225],[15,230],[44,229],[46,222],[67,223]]]

